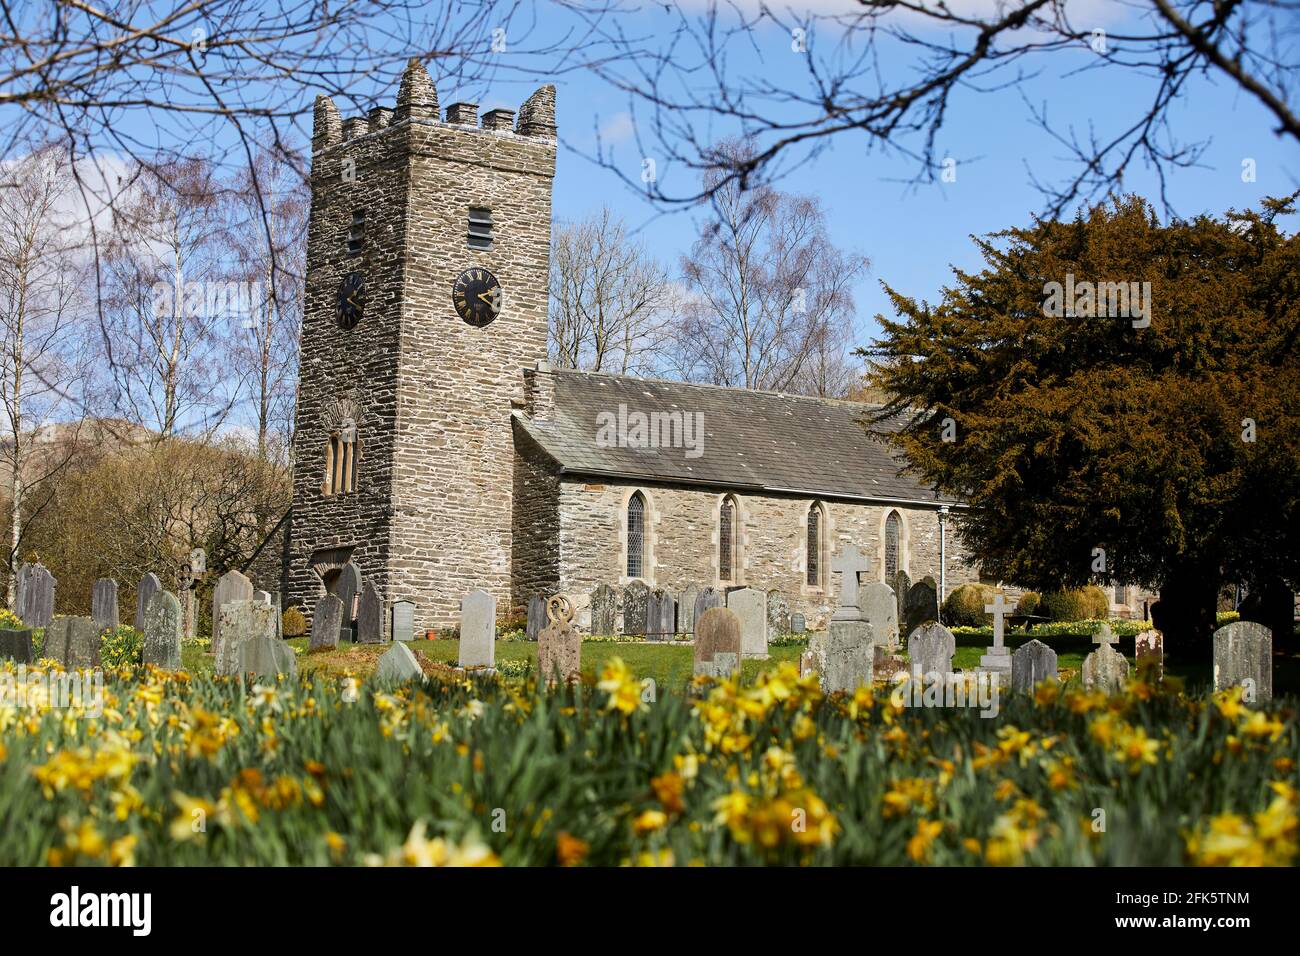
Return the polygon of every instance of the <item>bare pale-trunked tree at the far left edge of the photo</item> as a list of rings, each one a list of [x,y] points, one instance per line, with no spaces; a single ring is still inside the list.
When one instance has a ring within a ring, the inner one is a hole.
[[[83,263],[68,229],[72,179],[58,146],[29,153],[4,170],[0,185],[0,402],[6,434],[0,442],[9,479],[8,604],[26,520],[40,493],[68,463],[78,425],[56,429],[75,414],[83,342],[78,290]],[[48,496],[46,496],[48,497]]]

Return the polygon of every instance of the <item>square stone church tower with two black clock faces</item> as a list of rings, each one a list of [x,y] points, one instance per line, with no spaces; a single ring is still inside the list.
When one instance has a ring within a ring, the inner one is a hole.
[[[546,356],[555,87],[481,122],[424,66],[396,109],[316,100],[289,598],[351,562],[417,631],[511,600],[511,411]]]

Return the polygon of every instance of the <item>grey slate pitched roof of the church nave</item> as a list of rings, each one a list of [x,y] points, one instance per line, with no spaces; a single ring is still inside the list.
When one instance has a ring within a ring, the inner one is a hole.
[[[863,428],[880,406],[572,369],[538,375],[552,376],[554,405],[516,421],[562,473],[958,503],[904,473],[905,459],[880,437],[889,423]],[[659,434],[672,423],[686,447],[637,447],[640,420],[660,423]]]

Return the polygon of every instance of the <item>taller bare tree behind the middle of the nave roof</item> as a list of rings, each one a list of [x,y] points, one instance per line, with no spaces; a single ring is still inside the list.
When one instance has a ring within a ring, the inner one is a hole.
[[[742,157],[748,144],[724,155]],[[734,161],[744,161],[736,159]],[[718,170],[712,216],[681,271],[690,291],[679,328],[680,372],[748,389],[842,394],[854,281],[867,260],[832,245],[816,199],[742,189]],[[708,178],[708,177],[706,177]]]

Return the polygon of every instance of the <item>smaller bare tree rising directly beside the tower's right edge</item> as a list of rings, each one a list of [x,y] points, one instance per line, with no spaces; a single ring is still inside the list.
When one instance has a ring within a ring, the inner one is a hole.
[[[670,328],[668,273],[602,208],[551,238],[550,355],[564,368],[655,371]]]

